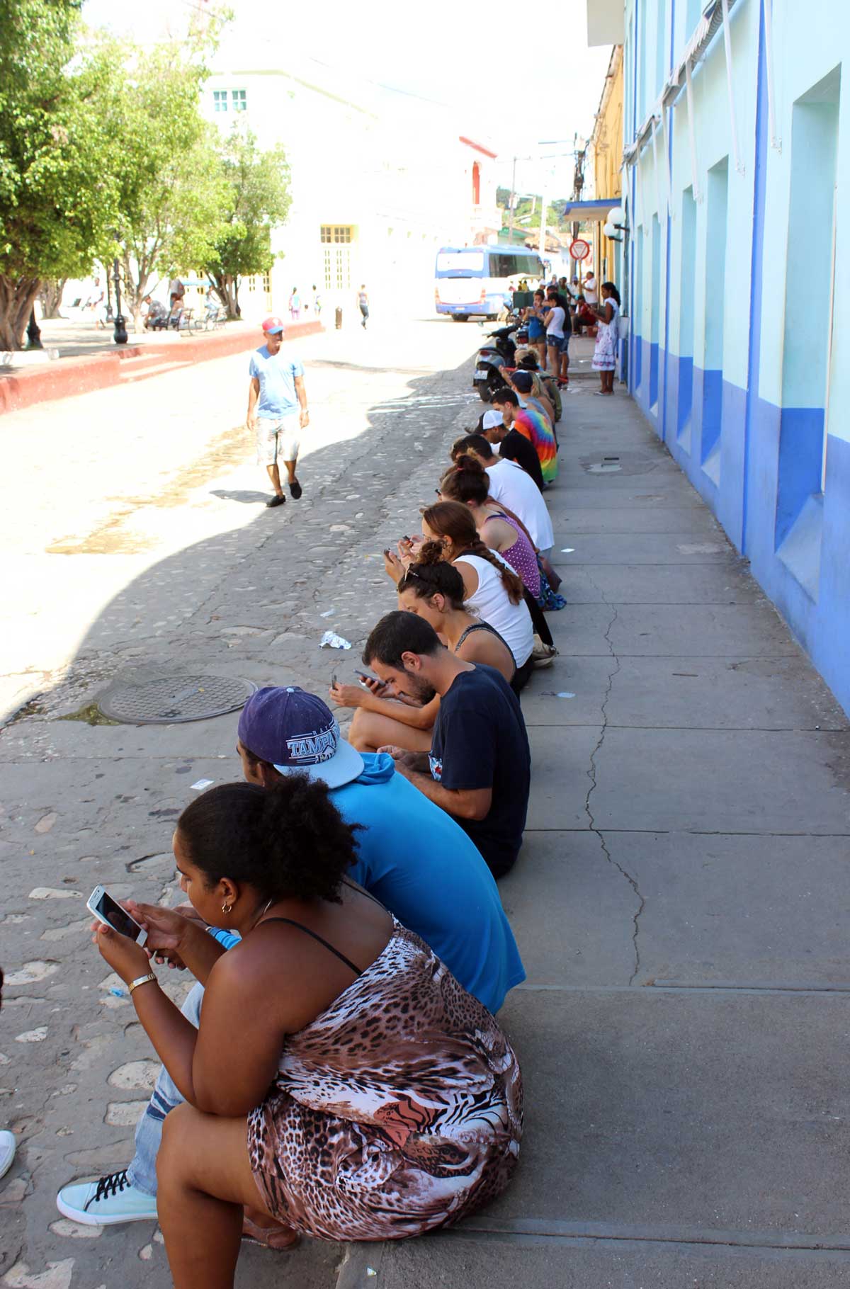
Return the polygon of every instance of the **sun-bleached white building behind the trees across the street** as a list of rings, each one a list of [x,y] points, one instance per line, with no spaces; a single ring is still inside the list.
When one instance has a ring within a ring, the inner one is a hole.
[[[242,315],[285,315],[298,287],[311,317],[316,287],[328,321],[337,305],[356,308],[361,282],[378,308],[401,295],[427,312],[437,249],[494,238],[500,227],[495,153],[439,104],[311,59],[293,70],[255,44],[241,58],[237,37],[222,44],[204,112],[223,130],[246,120],[262,148],[282,143],[293,199],[272,237],[280,258],[241,285]]]

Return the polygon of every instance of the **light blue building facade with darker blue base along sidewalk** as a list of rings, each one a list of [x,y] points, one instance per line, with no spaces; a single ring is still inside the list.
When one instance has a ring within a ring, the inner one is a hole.
[[[629,391],[850,712],[850,6],[622,30]]]

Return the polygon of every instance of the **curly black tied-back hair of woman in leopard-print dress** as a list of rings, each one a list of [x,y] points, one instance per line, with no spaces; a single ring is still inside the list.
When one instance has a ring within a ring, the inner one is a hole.
[[[222,878],[245,882],[268,900],[329,900],[356,858],[355,833],[328,785],[281,775],[270,788],[222,784],[187,806],[177,821],[183,848],[212,889]]]

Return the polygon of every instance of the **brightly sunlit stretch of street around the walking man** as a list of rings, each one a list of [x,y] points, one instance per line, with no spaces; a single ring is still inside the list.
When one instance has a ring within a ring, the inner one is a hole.
[[[352,321],[294,342],[311,402],[304,500],[316,482],[342,477],[346,445],[365,433],[373,405],[457,366],[479,335],[475,325],[378,316],[365,333]],[[248,361],[212,360],[0,418],[0,715],[55,682],[89,624],[134,577],[257,519],[271,487],[244,428]],[[333,445],[317,478],[310,458]],[[294,504],[292,512],[286,528]],[[282,512],[264,518],[280,526]],[[164,594],[156,621],[184,608]]]

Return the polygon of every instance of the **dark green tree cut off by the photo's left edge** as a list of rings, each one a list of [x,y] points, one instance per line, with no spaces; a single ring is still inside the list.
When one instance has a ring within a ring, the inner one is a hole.
[[[102,50],[79,0],[0,0],[0,349],[19,349],[44,278],[88,273],[117,189]]]

